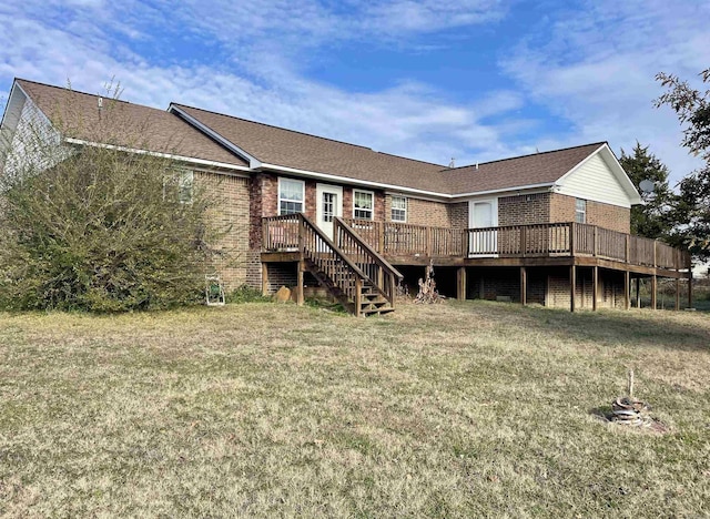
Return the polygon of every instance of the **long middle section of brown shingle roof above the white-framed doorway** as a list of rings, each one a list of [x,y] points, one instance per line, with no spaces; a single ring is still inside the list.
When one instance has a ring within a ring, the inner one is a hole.
[[[173,103],[266,164],[446,193],[444,166]]]

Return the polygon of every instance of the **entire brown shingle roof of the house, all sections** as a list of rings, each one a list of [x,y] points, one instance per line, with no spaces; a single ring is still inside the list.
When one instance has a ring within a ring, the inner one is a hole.
[[[20,79],[17,83],[67,136],[95,141],[97,135],[102,135],[103,143],[248,166],[245,160],[176,114],[104,99],[100,118],[98,95]],[[265,164],[440,194],[551,184],[605,144],[485,162],[478,167],[446,169],[193,106],[178,103],[172,106]]]

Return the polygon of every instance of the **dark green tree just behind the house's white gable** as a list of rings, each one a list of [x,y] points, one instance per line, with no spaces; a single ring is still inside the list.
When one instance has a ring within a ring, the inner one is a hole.
[[[643,205],[631,207],[631,233],[655,240],[668,240],[673,228],[674,195],[668,186],[668,167],[648,146],[636,143],[631,154],[621,150],[619,162],[641,193]],[[640,183],[653,182],[653,191],[645,193]]]

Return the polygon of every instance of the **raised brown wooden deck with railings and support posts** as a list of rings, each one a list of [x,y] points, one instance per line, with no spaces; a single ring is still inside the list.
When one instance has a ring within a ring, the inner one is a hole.
[[[599,268],[622,272],[626,308],[630,305],[632,277],[637,279],[637,292],[639,277],[651,278],[653,308],[657,277],[676,278],[677,308],[680,308],[680,279],[692,278],[690,254],[687,251],[673,248],[657,240],[575,222],[449,228],[336,217],[335,230],[335,250],[345,257],[355,254],[354,265],[366,271],[363,278],[371,279],[373,285],[381,284],[382,272],[395,273],[394,266],[426,265],[433,262],[435,266],[459,267],[458,298],[466,298],[466,267],[518,267],[520,302],[525,305],[528,267],[567,266],[571,312],[575,312],[578,267],[591,268],[594,294],[597,294]],[[298,233],[300,226],[294,217],[263,218],[262,262],[300,261],[304,254],[304,242]],[[354,248],[353,243],[357,244],[357,247]],[[362,251],[366,254],[359,257]],[[317,256],[318,251],[315,252]],[[369,272],[372,268],[375,271]],[[390,278],[394,278],[392,274]],[[692,298],[691,287],[689,283],[689,306]],[[390,286],[387,288],[393,291]],[[381,291],[384,293],[385,287]],[[596,309],[596,297],[592,305]]]

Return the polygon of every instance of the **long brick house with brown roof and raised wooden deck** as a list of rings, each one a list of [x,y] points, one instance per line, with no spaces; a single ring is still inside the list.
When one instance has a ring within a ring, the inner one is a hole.
[[[91,142],[98,96],[16,80],[1,131],[81,121],[55,138],[169,153],[223,196],[223,245],[242,258],[220,266],[232,287],[290,285],[302,301],[320,285],[355,314],[383,313],[432,263],[447,295],[575,311],[628,308],[633,279],[691,276],[686,252],[629,234],[641,200],[606,142],[446,167],[179,103],[111,103],[120,122]]]

